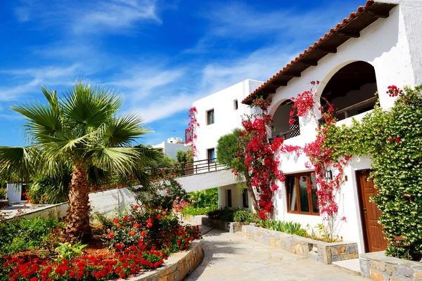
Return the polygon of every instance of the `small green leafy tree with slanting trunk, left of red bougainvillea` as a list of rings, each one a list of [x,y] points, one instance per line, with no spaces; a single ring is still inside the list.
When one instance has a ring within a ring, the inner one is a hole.
[[[253,207],[255,210],[258,210],[259,207],[255,192],[250,183],[249,169],[245,166],[244,157],[238,157],[238,155],[243,155],[243,148],[241,148],[239,141],[239,131],[240,129],[234,129],[233,132],[219,138],[217,143],[217,162],[228,166],[230,169],[239,171],[239,173],[236,174],[238,187],[243,190],[244,185],[246,185],[249,196],[252,198]]]

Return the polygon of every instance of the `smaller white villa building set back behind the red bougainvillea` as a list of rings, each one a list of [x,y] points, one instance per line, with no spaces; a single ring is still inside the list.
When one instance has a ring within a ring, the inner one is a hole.
[[[197,110],[196,118],[200,125],[196,128],[198,138],[195,141],[195,161],[215,162],[219,138],[231,133],[236,128],[241,128],[242,117],[251,113],[251,108],[241,102],[262,83],[262,81],[245,79],[193,103]],[[199,162],[200,165],[203,165],[203,162]],[[203,170],[203,172],[206,171],[207,169]],[[216,180],[216,176],[220,180],[222,178],[226,180],[219,182]],[[251,207],[248,193],[238,194],[234,176],[229,174],[229,171],[221,171],[220,175],[210,173],[209,178],[205,177],[207,175],[202,176],[203,181],[206,182],[203,184],[209,183],[211,185],[208,186],[212,188],[219,187],[219,207]],[[212,185],[212,183],[215,183],[215,185]],[[203,185],[198,185],[198,189],[205,189],[201,186]]]

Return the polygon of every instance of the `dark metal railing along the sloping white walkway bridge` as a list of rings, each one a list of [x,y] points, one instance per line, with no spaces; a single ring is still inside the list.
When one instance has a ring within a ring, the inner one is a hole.
[[[173,166],[159,166],[148,168],[146,171],[154,177],[163,176],[189,176],[206,173],[209,171],[219,171],[226,169],[226,165],[218,164],[216,158],[198,160],[193,162],[178,163]]]

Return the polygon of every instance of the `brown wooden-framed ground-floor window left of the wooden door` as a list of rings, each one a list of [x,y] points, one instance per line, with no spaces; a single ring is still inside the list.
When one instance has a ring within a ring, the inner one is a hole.
[[[315,177],[311,173],[286,176],[288,213],[319,216]]]

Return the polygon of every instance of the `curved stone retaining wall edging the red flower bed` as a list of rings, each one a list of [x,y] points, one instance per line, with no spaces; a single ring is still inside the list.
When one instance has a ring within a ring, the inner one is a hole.
[[[181,281],[203,261],[203,249],[199,240],[192,242],[188,251],[172,254],[164,266],[129,278],[129,281]]]

